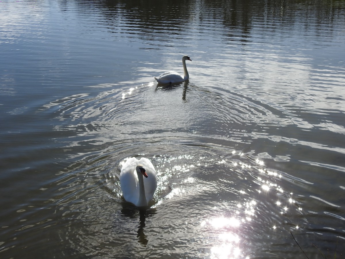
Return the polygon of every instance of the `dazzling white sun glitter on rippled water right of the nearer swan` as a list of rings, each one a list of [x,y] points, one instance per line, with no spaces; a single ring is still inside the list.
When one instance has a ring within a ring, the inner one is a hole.
[[[240,173],[244,180],[247,180],[246,174],[248,172],[250,175],[254,176],[254,182],[257,184],[257,187],[241,187],[235,191],[242,201],[237,201],[234,204],[230,203],[233,206],[230,215],[227,214],[226,217],[222,217],[222,215],[220,215],[220,217],[211,217],[200,222],[200,227],[205,233],[210,234],[211,258],[249,258],[248,252],[244,251],[246,239],[242,237],[241,231],[248,226],[254,228],[258,223],[258,219],[262,217],[262,206],[264,205],[262,199],[267,200],[268,203],[272,203],[274,206],[273,209],[276,209],[276,212],[272,211],[272,213],[275,214],[277,220],[276,222],[271,222],[268,223],[267,226],[264,226],[266,230],[269,229],[269,231],[275,232],[283,231],[285,228],[283,225],[284,217],[290,217],[293,215],[292,213],[294,213],[294,211],[301,214],[303,213],[302,208],[299,207],[298,201],[294,199],[293,193],[284,190],[281,183],[283,177],[281,172],[266,168],[264,162],[260,160],[260,158],[255,158],[248,162],[243,160],[246,154],[235,151],[231,153],[242,157],[237,161],[229,161],[223,158],[208,161],[220,165],[230,164],[230,166],[234,168],[234,171]],[[200,162],[206,159],[206,157],[203,156],[198,158]],[[178,163],[173,162],[176,160],[179,160]],[[165,182],[170,178],[175,179],[180,175],[183,176],[182,182],[184,186],[186,186],[185,184],[193,184],[198,181],[197,178],[193,177],[193,172],[195,171],[195,167],[203,163],[198,163],[197,161],[189,165],[188,162],[180,162],[182,160],[195,161],[195,157],[190,155],[181,155],[177,157],[161,156],[160,159],[157,160],[160,161],[165,168],[164,172],[159,172],[161,181]],[[187,189],[174,187],[166,198],[182,197],[186,192]],[[254,192],[256,192],[257,195],[260,193],[262,198],[251,199],[250,196],[253,195]],[[275,198],[269,197],[272,195],[279,196],[275,196]],[[229,203],[225,201],[224,206],[228,207]],[[265,209],[267,208],[270,208],[269,205],[265,207]],[[219,207],[215,206],[215,210],[218,211]],[[289,225],[289,228],[300,230],[301,224],[292,224]]]

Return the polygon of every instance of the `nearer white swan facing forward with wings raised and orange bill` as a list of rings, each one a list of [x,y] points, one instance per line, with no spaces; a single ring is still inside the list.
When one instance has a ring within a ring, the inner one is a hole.
[[[137,207],[148,206],[157,188],[155,167],[145,157],[129,158],[121,169],[120,186],[126,201]]]

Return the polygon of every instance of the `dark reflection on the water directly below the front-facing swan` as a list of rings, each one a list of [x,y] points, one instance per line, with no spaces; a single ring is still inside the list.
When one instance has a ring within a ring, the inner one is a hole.
[[[138,227],[138,231],[137,231],[137,238],[138,238],[138,242],[142,245],[142,246],[146,246],[148,243],[148,239],[147,236],[145,234],[145,221],[146,218],[152,217],[153,215],[156,214],[156,209],[154,208],[149,208],[149,209],[142,209],[142,208],[136,208],[132,205],[123,205],[122,210],[121,210],[121,214],[124,217],[128,217],[131,219],[135,219],[138,218],[139,215],[139,227]]]

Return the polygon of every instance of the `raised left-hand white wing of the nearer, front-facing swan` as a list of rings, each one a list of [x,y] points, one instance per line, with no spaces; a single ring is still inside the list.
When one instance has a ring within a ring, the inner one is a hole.
[[[136,203],[139,200],[139,185],[138,175],[135,168],[138,165],[138,160],[131,157],[122,166],[120,173],[121,191],[126,201]]]

